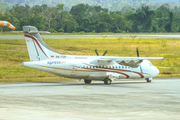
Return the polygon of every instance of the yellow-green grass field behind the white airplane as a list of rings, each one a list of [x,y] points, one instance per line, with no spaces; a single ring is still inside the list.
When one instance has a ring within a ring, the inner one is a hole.
[[[56,52],[69,55],[96,55],[108,50],[107,56],[164,57],[152,60],[158,67],[157,77],[180,77],[180,41],[178,39],[98,38],[98,39],[44,39]],[[0,82],[31,82],[70,80],[21,66],[29,61],[24,39],[0,39]]]

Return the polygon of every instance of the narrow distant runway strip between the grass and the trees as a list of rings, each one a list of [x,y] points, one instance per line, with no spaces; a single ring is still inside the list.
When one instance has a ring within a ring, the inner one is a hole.
[[[132,38],[132,35],[42,35],[42,38]],[[174,38],[180,39],[180,35],[137,35],[136,38]],[[24,35],[0,35],[0,39],[24,39]]]

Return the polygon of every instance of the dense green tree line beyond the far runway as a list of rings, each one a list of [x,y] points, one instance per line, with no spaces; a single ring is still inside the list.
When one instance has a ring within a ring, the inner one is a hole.
[[[135,10],[126,6],[121,11],[109,11],[101,6],[78,4],[70,11],[64,4],[56,6],[14,5],[9,12],[0,12],[0,20],[9,21],[16,30],[32,25],[50,32],[113,32],[113,33],[159,33],[180,32],[180,7],[171,10],[162,5],[156,10],[142,6]],[[1,27],[0,31],[10,31]]]

